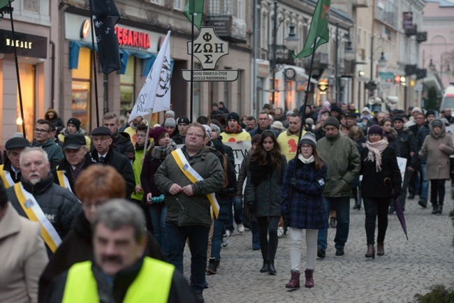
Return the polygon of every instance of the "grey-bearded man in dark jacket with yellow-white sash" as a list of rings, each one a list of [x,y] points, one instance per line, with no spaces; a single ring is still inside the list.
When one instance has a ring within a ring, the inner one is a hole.
[[[41,224],[41,237],[47,254],[52,256],[82,207],[71,191],[54,184],[43,149],[27,147],[20,154],[19,163],[22,177],[7,190],[8,197],[21,216]]]

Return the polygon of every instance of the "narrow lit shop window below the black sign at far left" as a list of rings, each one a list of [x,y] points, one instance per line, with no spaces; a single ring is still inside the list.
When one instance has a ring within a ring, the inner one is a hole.
[[[22,93],[22,106],[24,108],[24,121],[20,114],[19,88],[17,87],[17,131],[22,133],[22,123],[25,124],[25,136],[31,142],[34,138],[35,127],[35,66],[19,64],[20,88]],[[21,123],[22,122],[22,123]]]

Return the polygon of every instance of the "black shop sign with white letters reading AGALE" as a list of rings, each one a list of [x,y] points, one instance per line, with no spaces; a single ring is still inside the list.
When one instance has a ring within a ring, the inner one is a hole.
[[[47,58],[47,37],[15,31],[15,39],[13,39],[13,32],[3,29],[0,29],[0,37],[0,53],[14,54],[15,46],[18,56]]]

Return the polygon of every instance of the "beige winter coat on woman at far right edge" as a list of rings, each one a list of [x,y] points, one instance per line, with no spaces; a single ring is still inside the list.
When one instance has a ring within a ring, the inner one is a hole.
[[[419,151],[420,157],[427,156],[427,179],[449,179],[449,156],[454,154],[451,134],[446,133],[444,124],[438,136],[434,133],[432,123],[429,124],[429,130],[430,135],[425,137]],[[442,149],[439,149],[440,144],[444,144]]]

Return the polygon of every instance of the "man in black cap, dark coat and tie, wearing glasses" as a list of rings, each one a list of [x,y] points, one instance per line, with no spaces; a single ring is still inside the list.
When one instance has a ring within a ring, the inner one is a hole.
[[[91,145],[94,146],[94,151],[91,151],[90,155],[95,162],[112,166],[124,177],[126,181],[126,198],[129,198],[136,187],[133,166],[129,159],[115,151],[111,144],[112,138],[109,128],[104,126],[95,128],[91,132]]]

